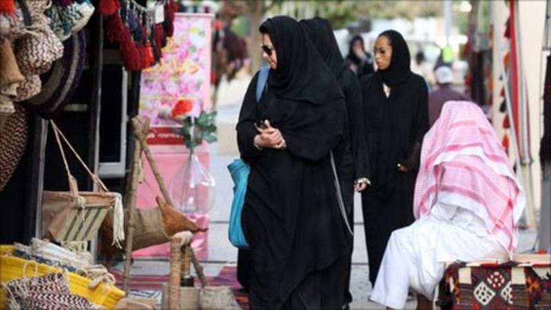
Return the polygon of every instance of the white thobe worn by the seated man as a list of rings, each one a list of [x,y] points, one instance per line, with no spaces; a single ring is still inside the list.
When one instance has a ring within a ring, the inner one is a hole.
[[[393,231],[371,300],[403,309],[409,288],[433,300],[446,262],[506,258],[508,251],[488,234],[484,220],[468,209],[437,203],[427,216]]]

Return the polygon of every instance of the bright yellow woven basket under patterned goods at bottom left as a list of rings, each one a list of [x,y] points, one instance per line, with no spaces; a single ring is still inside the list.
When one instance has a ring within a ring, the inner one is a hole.
[[[14,256],[9,256],[13,251],[12,246],[0,245],[0,281],[8,282],[14,279],[23,278],[23,269],[25,276],[30,278],[32,276],[42,276],[46,273],[63,272],[61,269],[40,264],[33,260],[24,260]],[[36,273],[35,273],[36,272]],[[116,287],[109,287],[103,283],[98,285],[95,289],[90,289],[89,285],[92,280],[77,275],[76,273],[69,273],[69,291],[73,294],[82,296],[106,309],[114,309],[118,300],[121,300],[125,296],[125,293]],[[0,309],[6,309],[4,300],[6,296],[3,291],[0,291]]]

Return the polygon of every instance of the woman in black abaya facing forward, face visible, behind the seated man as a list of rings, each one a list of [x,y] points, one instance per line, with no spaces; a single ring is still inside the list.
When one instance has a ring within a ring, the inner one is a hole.
[[[410,70],[402,34],[382,32],[373,50],[377,72],[360,81],[371,167],[362,207],[372,285],[392,231],[413,223],[419,152],[428,130],[428,89]]]

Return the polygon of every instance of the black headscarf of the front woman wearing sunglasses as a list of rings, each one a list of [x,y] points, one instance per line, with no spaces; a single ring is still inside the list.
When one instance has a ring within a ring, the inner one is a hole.
[[[275,96],[314,104],[343,97],[333,74],[298,21],[273,17],[260,25],[260,32],[269,34],[278,55],[278,67],[270,70],[268,78],[268,87]]]

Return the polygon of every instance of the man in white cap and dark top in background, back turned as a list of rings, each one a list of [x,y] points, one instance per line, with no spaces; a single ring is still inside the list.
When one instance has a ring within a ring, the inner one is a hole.
[[[435,71],[438,88],[428,94],[428,125],[432,126],[440,116],[442,106],[447,101],[471,101],[452,87],[453,72],[447,65],[441,65]]]

